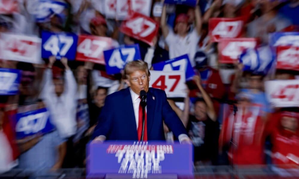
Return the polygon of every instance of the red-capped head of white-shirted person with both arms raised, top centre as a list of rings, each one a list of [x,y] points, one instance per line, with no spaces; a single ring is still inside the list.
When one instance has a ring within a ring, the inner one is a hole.
[[[174,32],[179,36],[187,35],[190,25],[188,24],[189,18],[187,14],[181,13],[176,16]]]

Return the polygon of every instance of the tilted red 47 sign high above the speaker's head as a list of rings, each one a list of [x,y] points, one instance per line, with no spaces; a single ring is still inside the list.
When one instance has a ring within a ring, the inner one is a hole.
[[[128,36],[143,41],[149,45],[158,33],[159,25],[153,19],[134,12],[120,26],[120,31]]]

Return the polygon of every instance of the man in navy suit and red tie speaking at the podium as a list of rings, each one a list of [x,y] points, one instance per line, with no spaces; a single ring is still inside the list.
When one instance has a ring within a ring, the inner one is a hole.
[[[149,88],[146,62],[128,62],[123,78],[129,87],[106,97],[94,129],[94,141],[165,140],[164,121],[181,143],[190,143],[184,125],[167,102],[166,93]]]

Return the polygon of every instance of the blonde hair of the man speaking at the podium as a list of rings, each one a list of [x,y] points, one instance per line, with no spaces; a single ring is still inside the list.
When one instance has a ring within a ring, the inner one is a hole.
[[[131,75],[136,70],[141,70],[146,72],[147,76],[150,76],[149,68],[147,62],[142,60],[130,61],[126,64],[123,73],[123,79],[128,79],[129,75]]]

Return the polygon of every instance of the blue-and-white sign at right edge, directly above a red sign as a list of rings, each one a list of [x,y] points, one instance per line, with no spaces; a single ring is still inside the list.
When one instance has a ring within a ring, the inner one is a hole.
[[[275,32],[269,36],[271,46],[299,46],[299,32]]]

